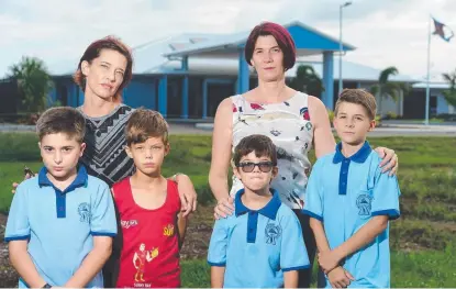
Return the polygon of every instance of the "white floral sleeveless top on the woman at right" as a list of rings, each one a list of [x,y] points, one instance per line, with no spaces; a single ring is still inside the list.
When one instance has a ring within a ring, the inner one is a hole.
[[[233,143],[252,134],[269,136],[277,147],[278,176],[271,187],[280,193],[280,200],[291,209],[304,207],[304,193],[311,164],[308,153],[313,140],[313,127],[308,109],[309,96],[297,92],[292,98],[279,103],[253,103],[243,96],[232,97]],[[243,188],[233,175],[230,194]]]

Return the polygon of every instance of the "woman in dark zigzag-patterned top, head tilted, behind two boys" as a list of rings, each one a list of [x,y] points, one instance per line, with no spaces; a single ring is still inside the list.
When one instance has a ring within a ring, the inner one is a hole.
[[[124,151],[124,129],[134,109],[122,103],[122,89],[132,79],[133,57],[120,40],[108,36],[91,43],[80,58],[74,75],[84,91],[78,110],[86,119],[86,151],[80,162],[89,175],[104,180],[110,187],[132,175],[133,160]],[[31,176],[29,176],[31,177]],[[190,178],[173,176],[178,184],[183,215],[196,210],[197,193]],[[13,187],[16,187],[13,184]],[[121,230],[119,230],[121,232]],[[114,241],[112,258],[103,268],[104,287],[115,287],[115,263],[120,240]]]

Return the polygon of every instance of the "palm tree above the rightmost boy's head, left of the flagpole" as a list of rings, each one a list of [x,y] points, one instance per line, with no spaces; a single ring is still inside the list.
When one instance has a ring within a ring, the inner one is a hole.
[[[391,98],[398,102],[401,91],[408,91],[408,87],[401,82],[390,82],[389,77],[397,75],[398,68],[390,66],[380,73],[378,84],[370,87],[370,92],[378,96],[378,114],[381,116],[381,101],[383,98]]]

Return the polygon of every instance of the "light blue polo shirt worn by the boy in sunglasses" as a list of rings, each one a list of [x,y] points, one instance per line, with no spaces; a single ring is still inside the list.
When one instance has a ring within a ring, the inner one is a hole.
[[[310,267],[301,225],[279,193],[260,210],[246,208],[236,193],[235,213],[215,221],[208,263],[225,267],[225,288],[283,287],[283,271]]]

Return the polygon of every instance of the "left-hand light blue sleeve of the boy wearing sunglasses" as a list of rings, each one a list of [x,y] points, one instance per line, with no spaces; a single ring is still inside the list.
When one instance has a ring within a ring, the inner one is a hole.
[[[224,267],[226,265],[226,247],[229,243],[229,219],[230,218],[220,219],[215,221],[208,251],[208,263],[211,266]]]

